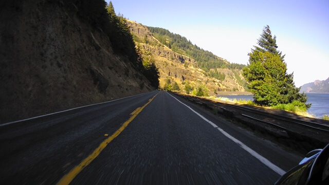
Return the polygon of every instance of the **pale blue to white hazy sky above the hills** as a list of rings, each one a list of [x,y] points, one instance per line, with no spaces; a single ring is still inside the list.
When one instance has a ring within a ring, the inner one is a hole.
[[[185,36],[231,63],[247,64],[248,52],[269,25],[296,86],[329,77],[329,0],[112,3],[116,13]]]

